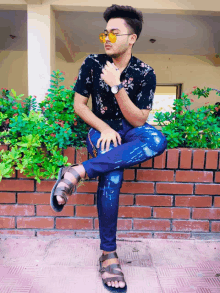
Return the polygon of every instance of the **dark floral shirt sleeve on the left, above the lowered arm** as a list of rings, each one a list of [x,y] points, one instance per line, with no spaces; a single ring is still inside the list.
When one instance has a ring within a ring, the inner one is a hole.
[[[92,93],[92,75],[91,75],[91,69],[92,69],[92,58],[91,54],[86,57],[86,59],[83,61],[80,69],[78,78],[76,80],[76,84],[73,88],[73,90],[80,95],[89,98],[90,94]]]

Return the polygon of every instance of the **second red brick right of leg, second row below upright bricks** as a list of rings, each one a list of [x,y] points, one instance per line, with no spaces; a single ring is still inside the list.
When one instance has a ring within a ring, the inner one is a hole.
[[[192,194],[193,184],[182,183],[156,183],[157,193]]]

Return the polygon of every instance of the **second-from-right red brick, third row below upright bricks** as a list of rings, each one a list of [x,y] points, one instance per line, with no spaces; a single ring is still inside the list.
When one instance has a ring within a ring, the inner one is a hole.
[[[211,196],[176,196],[175,206],[181,207],[211,207]]]

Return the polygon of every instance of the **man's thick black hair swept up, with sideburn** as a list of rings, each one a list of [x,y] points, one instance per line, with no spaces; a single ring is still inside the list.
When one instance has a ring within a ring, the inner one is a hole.
[[[128,25],[128,33],[136,34],[138,40],[142,31],[143,14],[132,6],[123,6],[112,4],[103,13],[103,18],[106,22],[111,18],[123,18]],[[134,44],[132,45],[132,47]]]

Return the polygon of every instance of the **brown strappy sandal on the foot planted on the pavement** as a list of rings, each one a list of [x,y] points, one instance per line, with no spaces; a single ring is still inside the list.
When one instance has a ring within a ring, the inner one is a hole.
[[[109,277],[109,278],[105,278],[105,279],[102,278],[103,285],[110,292],[127,292],[127,284],[124,279],[124,274],[121,271],[117,270],[117,268],[121,269],[120,264],[111,264],[111,265],[108,265],[107,267],[102,266],[102,262],[105,261],[106,259],[110,259],[110,258],[118,258],[117,253],[111,252],[106,255],[102,254],[102,256],[99,258],[99,263],[100,263],[99,272],[101,274],[103,274],[104,272],[107,272],[110,274],[117,275],[117,277]],[[125,286],[123,288],[120,288],[120,287],[116,288],[116,287],[108,286],[107,283],[111,282],[111,281],[118,281],[118,282],[122,281],[125,283]]]

